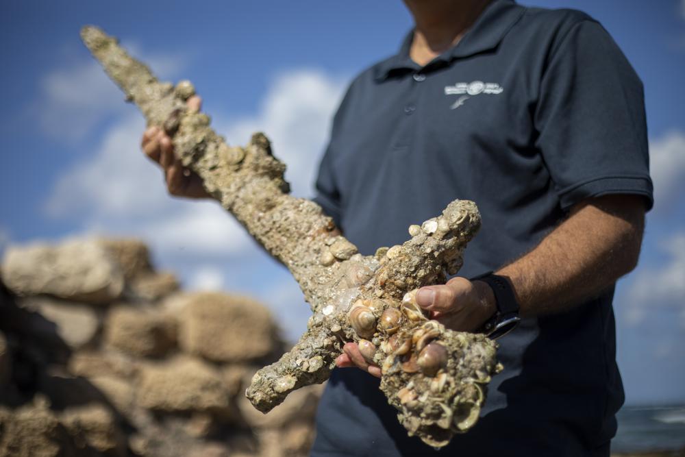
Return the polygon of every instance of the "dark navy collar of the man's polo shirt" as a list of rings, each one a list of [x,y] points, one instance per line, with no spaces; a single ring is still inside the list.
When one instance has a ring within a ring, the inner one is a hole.
[[[469,55],[494,49],[511,27],[519,21],[524,12],[525,8],[516,5],[514,0],[493,0],[478,16],[464,37],[455,46],[438,55],[432,62],[438,60],[449,62],[456,58],[469,57]],[[386,79],[394,71],[417,71],[421,69],[421,66],[409,57],[409,49],[413,39],[414,30],[412,29],[404,38],[399,53],[378,64],[375,69],[376,79]]]

